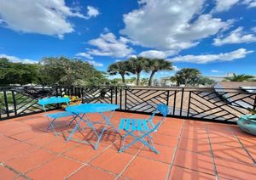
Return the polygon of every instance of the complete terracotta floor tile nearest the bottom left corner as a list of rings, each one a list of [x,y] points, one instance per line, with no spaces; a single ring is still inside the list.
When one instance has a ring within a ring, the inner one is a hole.
[[[6,164],[19,172],[26,173],[55,157],[44,149],[34,149],[29,153],[8,160]]]

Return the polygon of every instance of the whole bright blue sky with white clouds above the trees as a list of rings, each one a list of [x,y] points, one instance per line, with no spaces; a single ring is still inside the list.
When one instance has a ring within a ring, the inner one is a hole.
[[[106,71],[140,55],[172,61],[158,77],[256,75],[255,45],[256,0],[0,0],[0,57],[13,62],[64,55]]]

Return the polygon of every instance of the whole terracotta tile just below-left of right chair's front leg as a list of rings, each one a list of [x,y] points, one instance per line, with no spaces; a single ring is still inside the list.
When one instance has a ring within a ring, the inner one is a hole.
[[[119,174],[132,158],[133,155],[118,153],[116,150],[107,149],[101,155],[98,155],[95,160],[92,160],[90,165],[98,166],[108,172]]]

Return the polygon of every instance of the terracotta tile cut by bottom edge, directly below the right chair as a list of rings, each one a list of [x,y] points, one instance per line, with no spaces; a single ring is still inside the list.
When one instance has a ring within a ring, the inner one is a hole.
[[[166,179],[169,165],[137,156],[122,176],[131,179]]]

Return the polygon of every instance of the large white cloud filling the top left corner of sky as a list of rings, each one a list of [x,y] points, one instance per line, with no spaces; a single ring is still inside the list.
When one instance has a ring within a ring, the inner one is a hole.
[[[0,25],[14,31],[38,33],[63,38],[74,31],[70,17],[89,19],[96,13],[88,8],[88,15],[79,8],[67,7],[65,0],[0,0]]]

